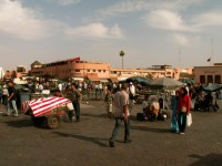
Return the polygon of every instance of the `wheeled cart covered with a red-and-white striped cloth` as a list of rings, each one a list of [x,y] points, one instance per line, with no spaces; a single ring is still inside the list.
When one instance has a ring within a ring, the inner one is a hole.
[[[73,111],[73,105],[70,100],[64,97],[40,97],[22,103],[22,112],[31,116],[36,126],[47,123],[51,129],[58,128],[61,125],[62,117],[69,111]]]

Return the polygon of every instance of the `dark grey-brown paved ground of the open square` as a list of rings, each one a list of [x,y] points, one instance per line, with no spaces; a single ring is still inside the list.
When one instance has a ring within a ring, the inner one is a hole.
[[[220,101],[220,103],[222,103]],[[222,106],[222,104],[221,104]],[[1,111],[4,107],[1,106]],[[114,121],[102,102],[83,104],[80,123],[62,123],[58,129],[34,127],[30,117],[0,116],[0,165],[2,166],[220,166],[222,163],[222,111],[192,112],[185,135],[169,132],[167,122],[138,122],[132,113],[130,144],[123,128],[115,147],[108,139]]]

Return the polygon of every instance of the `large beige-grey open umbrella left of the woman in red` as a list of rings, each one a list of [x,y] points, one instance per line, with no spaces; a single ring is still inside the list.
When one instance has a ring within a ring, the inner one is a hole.
[[[183,86],[183,83],[170,77],[159,77],[150,82],[152,90],[175,90]]]

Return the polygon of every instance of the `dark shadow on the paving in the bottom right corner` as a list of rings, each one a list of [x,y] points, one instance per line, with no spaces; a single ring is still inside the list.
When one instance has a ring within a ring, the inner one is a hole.
[[[222,155],[221,154],[209,154],[206,156],[201,156],[196,154],[192,154],[189,157],[198,158],[196,162],[191,164],[190,166],[200,166],[200,165],[221,165],[222,163]]]

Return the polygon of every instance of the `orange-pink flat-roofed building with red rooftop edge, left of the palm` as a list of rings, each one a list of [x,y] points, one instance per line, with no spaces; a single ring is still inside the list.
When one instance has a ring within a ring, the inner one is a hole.
[[[31,66],[32,76],[50,76],[58,79],[84,77],[95,73],[100,79],[110,77],[110,64],[100,62],[81,61],[80,58],[56,61],[47,64]]]

